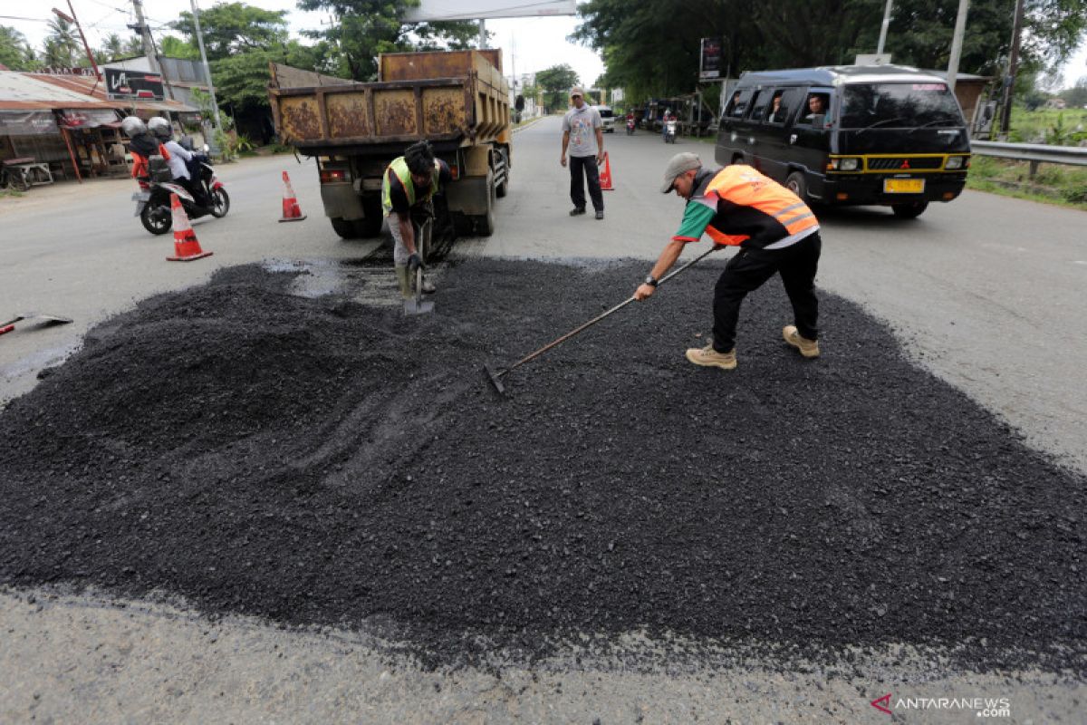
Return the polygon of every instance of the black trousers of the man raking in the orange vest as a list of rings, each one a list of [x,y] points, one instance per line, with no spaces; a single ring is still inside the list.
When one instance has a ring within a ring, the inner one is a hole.
[[[740,304],[774,276],[782,275],[792,303],[792,324],[801,337],[819,339],[819,300],[815,272],[823,248],[819,232],[785,249],[741,249],[728,260],[713,289],[713,349],[728,352],[736,347],[736,322]]]

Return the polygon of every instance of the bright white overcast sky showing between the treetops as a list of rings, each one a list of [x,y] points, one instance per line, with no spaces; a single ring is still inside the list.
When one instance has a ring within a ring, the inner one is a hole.
[[[249,4],[265,10],[289,11],[290,29],[295,34],[302,29],[320,28],[322,22],[328,23],[327,14],[298,10],[297,0],[248,1]],[[639,0],[632,0],[634,1]],[[54,4],[61,10],[67,10],[66,0],[54,0]],[[110,33],[116,33],[123,38],[132,35],[125,27],[127,23],[135,22],[128,0],[72,0],[72,4],[92,48],[99,47],[102,38]],[[212,4],[214,2],[211,0],[200,0],[202,8]],[[0,25],[16,28],[32,45],[40,49],[47,32],[42,21],[51,17],[49,9],[52,7],[49,0],[0,0]],[[189,10],[189,0],[143,0],[143,14],[155,37],[166,35],[170,28],[162,26],[177,20],[178,13],[186,10]],[[11,16],[37,20],[13,20]],[[572,16],[487,21],[487,30],[491,34],[490,45],[502,49],[502,71],[507,75],[514,68],[520,75],[567,63],[578,74],[580,82],[589,85],[603,73],[603,62],[590,49],[566,41],[566,36],[576,26],[577,18]],[[1087,76],[1087,42],[1080,45],[1062,71],[1065,87],[1072,86],[1077,78]]]

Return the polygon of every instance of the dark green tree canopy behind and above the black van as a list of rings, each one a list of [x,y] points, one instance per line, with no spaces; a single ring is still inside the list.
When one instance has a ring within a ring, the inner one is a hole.
[[[1027,0],[1021,74],[1062,63],[1087,30],[1087,0]],[[590,0],[573,39],[599,50],[609,86],[632,102],[695,89],[699,40],[724,38],[723,67],[744,71],[852,63],[876,49],[885,0]],[[1000,76],[1015,0],[973,0],[960,72]],[[895,0],[886,52],[896,63],[948,65],[958,0]],[[1025,90],[1016,84],[1016,91]]]

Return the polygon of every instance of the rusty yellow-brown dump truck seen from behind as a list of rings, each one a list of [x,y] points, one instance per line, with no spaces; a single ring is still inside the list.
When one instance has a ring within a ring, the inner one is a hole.
[[[276,132],[316,158],[321,200],[337,234],[380,233],[385,170],[423,139],[453,175],[437,213],[462,234],[493,233],[495,200],[509,189],[511,161],[501,63],[496,49],[383,53],[375,83],[271,64]]]

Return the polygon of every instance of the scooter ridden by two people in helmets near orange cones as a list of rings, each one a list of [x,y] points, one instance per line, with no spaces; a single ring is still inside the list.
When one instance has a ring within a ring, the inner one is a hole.
[[[204,150],[208,150],[207,146]],[[136,202],[136,216],[139,216],[143,228],[151,234],[166,234],[174,225],[170,208],[171,193],[177,195],[190,220],[208,214],[222,218],[230,210],[230,196],[215,176],[215,168],[204,153],[197,154],[189,163],[189,173],[200,185],[204,203],[198,203],[185,187],[174,182],[162,157],[151,157],[148,166],[149,175],[138,179],[140,190],[133,195],[133,201]]]

